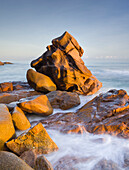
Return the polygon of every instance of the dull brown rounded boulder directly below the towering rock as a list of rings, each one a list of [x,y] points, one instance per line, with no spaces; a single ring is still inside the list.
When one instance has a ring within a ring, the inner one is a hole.
[[[46,94],[46,96],[53,108],[67,110],[80,104],[79,95],[73,92],[57,90]]]

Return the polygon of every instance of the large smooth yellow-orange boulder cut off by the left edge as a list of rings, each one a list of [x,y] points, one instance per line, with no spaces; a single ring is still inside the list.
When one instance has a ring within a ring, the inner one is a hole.
[[[4,149],[4,143],[15,134],[11,114],[4,104],[0,104],[0,150]]]

